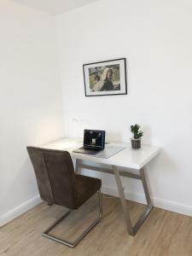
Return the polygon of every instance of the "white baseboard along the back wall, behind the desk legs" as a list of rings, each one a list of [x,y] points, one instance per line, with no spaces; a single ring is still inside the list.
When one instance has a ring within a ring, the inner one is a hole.
[[[107,195],[119,196],[118,190],[116,188],[109,187],[109,186],[102,186],[102,193]],[[130,193],[127,191],[127,189],[125,189],[124,193],[125,193],[125,199],[146,204],[145,195]],[[177,213],[192,217],[192,206],[182,205],[174,201],[167,201],[167,200],[163,200],[155,197],[151,198],[151,200],[153,201],[154,207],[158,207],[170,212],[177,212]]]

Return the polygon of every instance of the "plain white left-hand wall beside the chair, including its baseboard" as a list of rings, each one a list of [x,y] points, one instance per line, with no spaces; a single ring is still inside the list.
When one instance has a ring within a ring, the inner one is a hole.
[[[1,0],[0,89],[0,224],[4,224],[39,200],[26,146],[63,136],[53,17]]]

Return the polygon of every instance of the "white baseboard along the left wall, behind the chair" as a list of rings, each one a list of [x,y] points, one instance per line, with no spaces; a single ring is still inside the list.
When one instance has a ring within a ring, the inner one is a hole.
[[[30,210],[32,207],[35,207],[38,205],[38,203],[41,202],[40,196],[37,195],[30,199],[29,201],[26,201],[19,207],[16,207],[15,209],[6,212],[2,216],[0,216],[0,227],[2,227],[4,224],[9,223],[9,221],[13,220],[14,218],[17,218],[20,216],[20,214]]]

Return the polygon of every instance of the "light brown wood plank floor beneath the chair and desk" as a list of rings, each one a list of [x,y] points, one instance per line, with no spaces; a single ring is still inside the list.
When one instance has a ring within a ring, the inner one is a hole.
[[[135,221],[143,205],[128,202]],[[41,236],[66,209],[41,203],[0,229],[0,255],[5,256],[192,256],[192,218],[154,208],[137,236],[128,236],[119,199],[103,199],[103,218],[75,248]],[[63,221],[52,233],[71,240],[96,218],[96,198]],[[73,224],[73,228],[72,228]]]

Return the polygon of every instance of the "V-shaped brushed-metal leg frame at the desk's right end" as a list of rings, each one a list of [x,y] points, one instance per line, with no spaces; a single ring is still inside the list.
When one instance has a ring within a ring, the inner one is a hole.
[[[135,236],[136,233],[137,233],[137,230],[143,224],[143,221],[145,220],[145,218],[147,218],[148,213],[151,212],[151,210],[153,208],[151,200],[150,200],[150,196],[149,196],[149,193],[148,193],[148,185],[147,185],[147,182],[146,182],[144,169],[140,170],[140,176],[141,176],[141,179],[142,179],[143,189],[144,189],[144,193],[145,193],[145,196],[146,196],[146,200],[148,202],[148,206],[145,208],[142,215],[140,216],[140,218],[138,218],[137,223],[134,226],[132,226],[132,224],[131,224],[130,213],[129,213],[127,203],[125,201],[125,195],[124,195],[122,183],[121,183],[121,180],[120,180],[119,170],[118,170],[117,166],[113,166],[113,172],[114,172],[114,176],[115,176],[118,191],[119,191],[119,198],[120,198],[121,205],[122,205],[122,208],[123,208],[123,212],[124,212],[124,215],[125,215],[125,221],[126,221],[128,233],[131,236]]]

